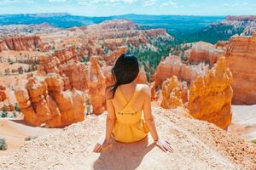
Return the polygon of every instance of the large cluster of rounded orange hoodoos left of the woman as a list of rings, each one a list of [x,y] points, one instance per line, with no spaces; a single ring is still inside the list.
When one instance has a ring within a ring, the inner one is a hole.
[[[15,96],[24,120],[32,126],[64,127],[84,120],[84,95],[75,89],[64,91],[64,80],[56,74],[30,77]]]

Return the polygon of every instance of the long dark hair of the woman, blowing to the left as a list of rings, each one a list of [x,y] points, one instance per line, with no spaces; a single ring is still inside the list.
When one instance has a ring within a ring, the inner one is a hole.
[[[119,56],[119,59],[116,60],[112,69],[114,83],[108,87],[112,92],[112,98],[119,85],[131,83],[136,79],[139,70],[135,55],[125,53]]]

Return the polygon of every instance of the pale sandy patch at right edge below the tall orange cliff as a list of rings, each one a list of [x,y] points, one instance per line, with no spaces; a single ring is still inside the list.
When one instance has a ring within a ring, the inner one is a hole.
[[[251,141],[256,139],[256,105],[232,105],[229,131]]]

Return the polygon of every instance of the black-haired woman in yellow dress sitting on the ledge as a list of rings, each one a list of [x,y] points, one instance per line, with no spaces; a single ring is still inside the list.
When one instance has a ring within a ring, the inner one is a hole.
[[[160,139],[156,131],[150,88],[134,82],[138,73],[138,61],[132,54],[122,54],[113,66],[115,83],[107,89],[106,138],[102,144],[96,144],[94,152],[108,149],[111,138],[131,143],[147,137],[148,131],[161,150],[172,151],[171,145]]]

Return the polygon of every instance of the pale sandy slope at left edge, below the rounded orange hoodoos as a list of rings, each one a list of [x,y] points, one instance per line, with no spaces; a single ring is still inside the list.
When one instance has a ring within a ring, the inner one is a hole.
[[[7,156],[25,144],[27,137],[38,137],[55,132],[56,128],[31,127],[21,119],[0,118],[0,138],[6,139],[8,150],[0,150],[0,157]]]

